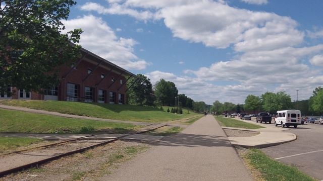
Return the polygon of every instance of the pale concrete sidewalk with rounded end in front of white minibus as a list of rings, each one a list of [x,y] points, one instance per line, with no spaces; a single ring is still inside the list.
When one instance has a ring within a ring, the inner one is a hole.
[[[225,129],[236,129],[236,130],[246,130],[246,131],[258,131],[260,134],[250,137],[228,137],[231,144],[242,146],[245,148],[264,148],[274,145],[279,145],[287,142],[291,142],[297,139],[297,136],[293,133],[283,132],[290,130],[288,128],[282,128],[280,126],[275,127],[274,124],[264,124],[256,123],[255,121],[246,121],[234,118],[239,121],[244,121],[246,123],[252,123],[266,128],[260,129],[243,129],[243,128],[231,128],[222,127]]]

